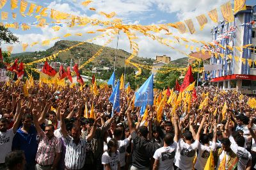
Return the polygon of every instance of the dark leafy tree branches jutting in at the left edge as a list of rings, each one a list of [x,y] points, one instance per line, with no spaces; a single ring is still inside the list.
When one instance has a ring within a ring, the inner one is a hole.
[[[11,31],[9,31],[6,27],[0,26],[0,45],[1,43],[16,43],[19,42],[19,38]]]

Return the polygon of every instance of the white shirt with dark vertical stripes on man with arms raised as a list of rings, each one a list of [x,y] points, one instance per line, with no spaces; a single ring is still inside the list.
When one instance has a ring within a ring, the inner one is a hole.
[[[65,166],[68,169],[82,169],[86,156],[86,137],[80,139],[79,143],[74,143],[74,139],[67,135],[64,138],[66,143]]]

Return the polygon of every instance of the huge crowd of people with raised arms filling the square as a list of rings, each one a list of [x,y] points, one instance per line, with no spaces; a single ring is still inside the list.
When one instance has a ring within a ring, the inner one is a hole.
[[[26,95],[24,82],[2,84],[0,169],[256,168],[256,109],[246,95],[198,87],[191,105],[182,100],[173,112],[166,103],[159,121],[157,105],[147,106],[143,118],[132,104],[133,90],[120,90],[120,112],[114,114],[111,87],[98,91],[35,81]],[[199,109],[206,93],[207,104]],[[154,95],[164,97],[160,90]]]

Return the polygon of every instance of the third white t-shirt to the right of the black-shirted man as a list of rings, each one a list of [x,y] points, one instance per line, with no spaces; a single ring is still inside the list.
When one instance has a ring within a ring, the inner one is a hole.
[[[199,143],[195,169],[204,170],[205,164],[207,162],[208,157],[210,156],[211,150],[215,151],[216,147],[216,143],[212,143],[211,146],[205,146],[204,144]]]

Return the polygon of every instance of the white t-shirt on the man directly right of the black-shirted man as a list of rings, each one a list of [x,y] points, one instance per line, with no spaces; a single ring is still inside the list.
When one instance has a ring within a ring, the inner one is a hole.
[[[173,160],[177,150],[177,142],[173,142],[171,146],[162,147],[155,151],[154,159],[159,160],[159,170],[173,170]]]

